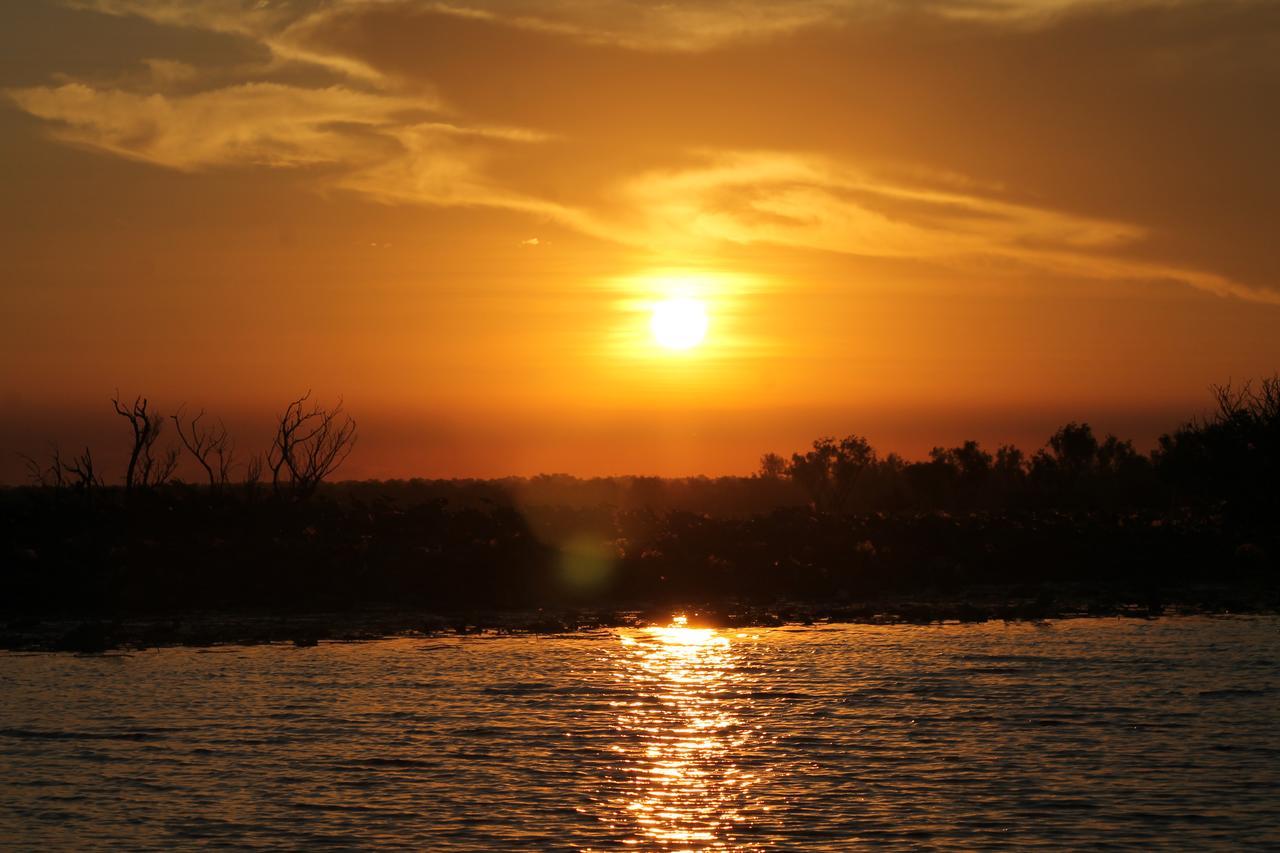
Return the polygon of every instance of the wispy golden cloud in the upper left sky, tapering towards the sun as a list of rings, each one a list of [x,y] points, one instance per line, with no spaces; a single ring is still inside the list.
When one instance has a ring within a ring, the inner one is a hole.
[[[328,167],[316,188],[390,204],[490,206],[575,220],[572,211],[485,175],[500,149],[535,143],[543,134],[422,120],[433,104],[421,97],[278,83],[192,95],[65,83],[9,96],[54,123],[60,141],[182,172]]]

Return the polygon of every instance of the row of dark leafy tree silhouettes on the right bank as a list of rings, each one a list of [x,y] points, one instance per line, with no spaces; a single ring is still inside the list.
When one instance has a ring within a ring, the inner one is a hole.
[[[790,480],[818,510],[1011,510],[1197,507],[1272,517],[1280,507],[1280,374],[1212,387],[1215,409],[1160,437],[1149,453],[1098,437],[1087,423],[1057,429],[1032,455],[1011,444],[934,447],[923,461],[879,456],[861,435],[819,438],[785,459],[765,453],[758,476]]]

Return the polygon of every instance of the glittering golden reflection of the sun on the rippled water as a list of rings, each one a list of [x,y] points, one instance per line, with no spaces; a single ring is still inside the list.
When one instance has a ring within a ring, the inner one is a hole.
[[[733,640],[684,616],[668,626],[620,634],[614,658],[623,794],[609,802],[609,822],[630,824],[627,844],[641,849],[717,849],[746,824],[755,770],[739,757],[759,731],[736,713],[744,674]]]

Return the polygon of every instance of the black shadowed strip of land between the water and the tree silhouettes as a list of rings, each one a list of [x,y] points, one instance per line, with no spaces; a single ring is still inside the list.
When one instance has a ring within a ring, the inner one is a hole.
[[[1262,506],[751,515],[0,489],[0,648],[1280,612]],[[393,500],[402,498],[402,500]]]

